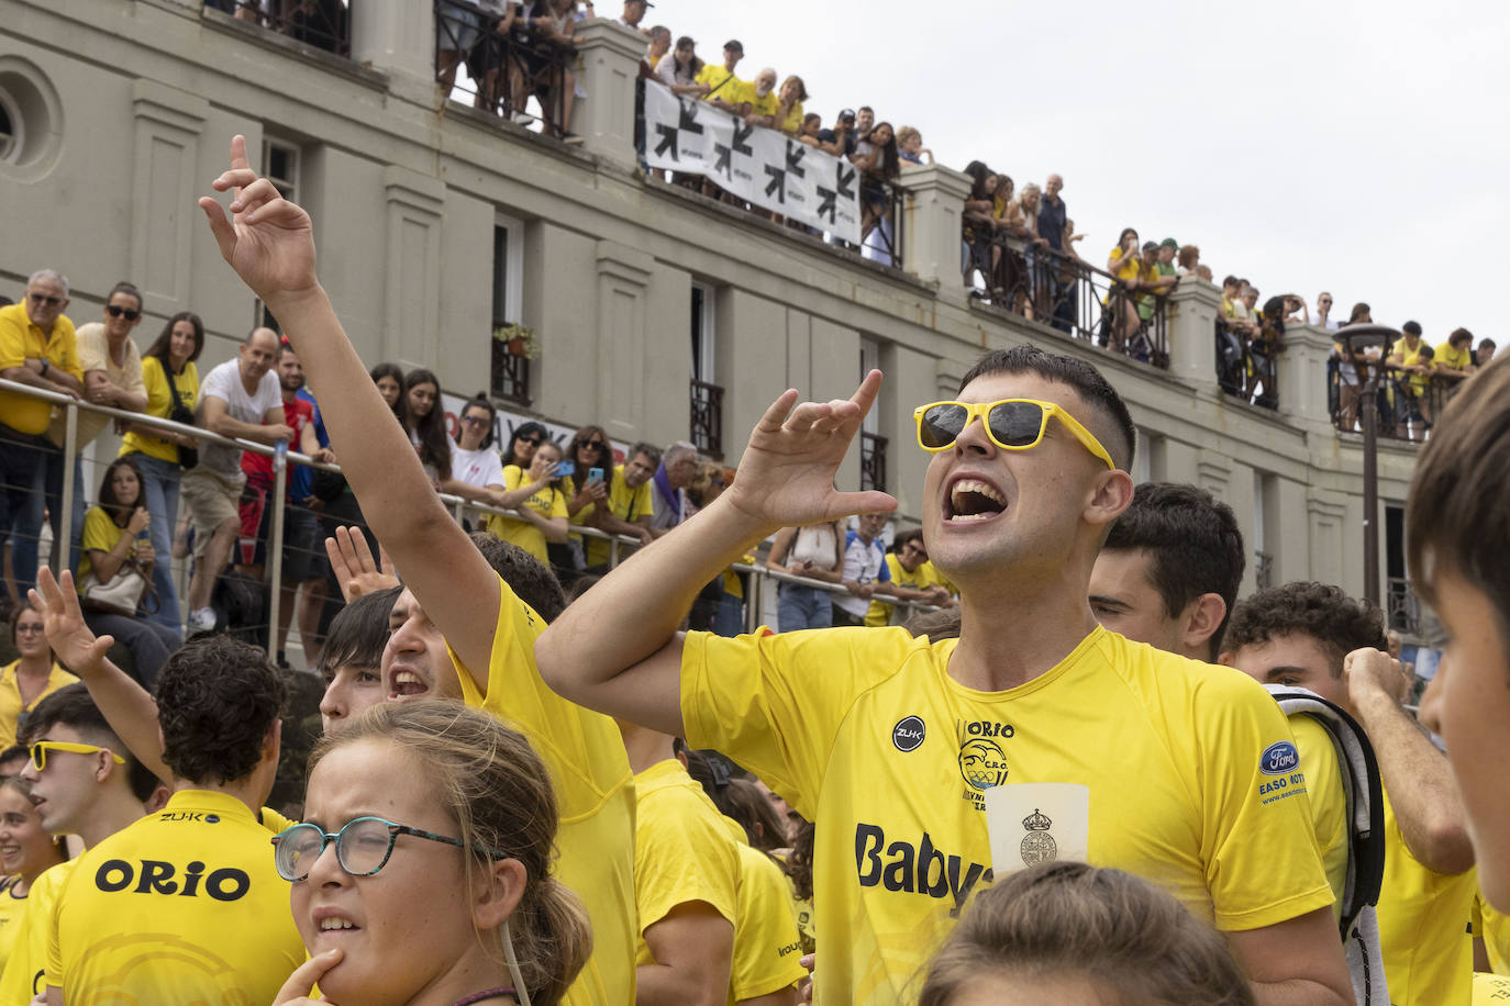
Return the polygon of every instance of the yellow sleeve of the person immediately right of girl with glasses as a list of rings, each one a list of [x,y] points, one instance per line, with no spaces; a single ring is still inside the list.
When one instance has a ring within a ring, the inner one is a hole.
[[[634,902],[640,935],[676,905],[707,902],[735,922],[734,839],[705,811],[695,795],[672,787],[649,795],[634,825]]]

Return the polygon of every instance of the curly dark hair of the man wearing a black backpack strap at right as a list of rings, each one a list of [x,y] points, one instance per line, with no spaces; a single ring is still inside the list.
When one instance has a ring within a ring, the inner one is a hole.
[[[1240,603],[1222,649],[1235,653],[1287,635],[1315,639],[1332,661],[1332,677],[1342,676],[1342,658],[1353,650],[1389,650],[1379,605],[1354,600],[1341,587],[1299,579],[1261,590]]]

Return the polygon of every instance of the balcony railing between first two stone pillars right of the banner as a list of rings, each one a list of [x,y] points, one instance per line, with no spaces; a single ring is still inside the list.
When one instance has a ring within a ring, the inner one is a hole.
[[[1169,297],[1128,290],[1081,258],[978,222],[963,241],[971,296],[1140,363],[1169,368]]]

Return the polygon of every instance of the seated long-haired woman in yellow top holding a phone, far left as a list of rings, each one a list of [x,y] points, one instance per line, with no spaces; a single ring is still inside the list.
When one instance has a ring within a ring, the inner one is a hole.
[[[140,594],[116,599],[110,609],[89,599],[91,587],[107,587],[118,576],[137,575],[143,591],[151,582],[157,554],[146,535],[151,514],[145,502],[136,463],[128,457],[110,462],[100,483],[100,505],[85,514],[77,582],[85,623],[97,636],[112,635],[125,644],[136,664],[136,680],[151,691],[157,671],[181,643],[178,633],[140,614]]]

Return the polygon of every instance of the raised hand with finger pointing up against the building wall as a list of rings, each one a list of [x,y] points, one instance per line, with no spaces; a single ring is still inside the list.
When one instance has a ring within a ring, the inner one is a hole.
[[[199,199],[199,208],[220,255],[258,297],[272,303],[319,288],[310,214],[252,170],[245,136],[231,137],[231,167],[213,186],[231,193],[231,217],[210,196]]]

